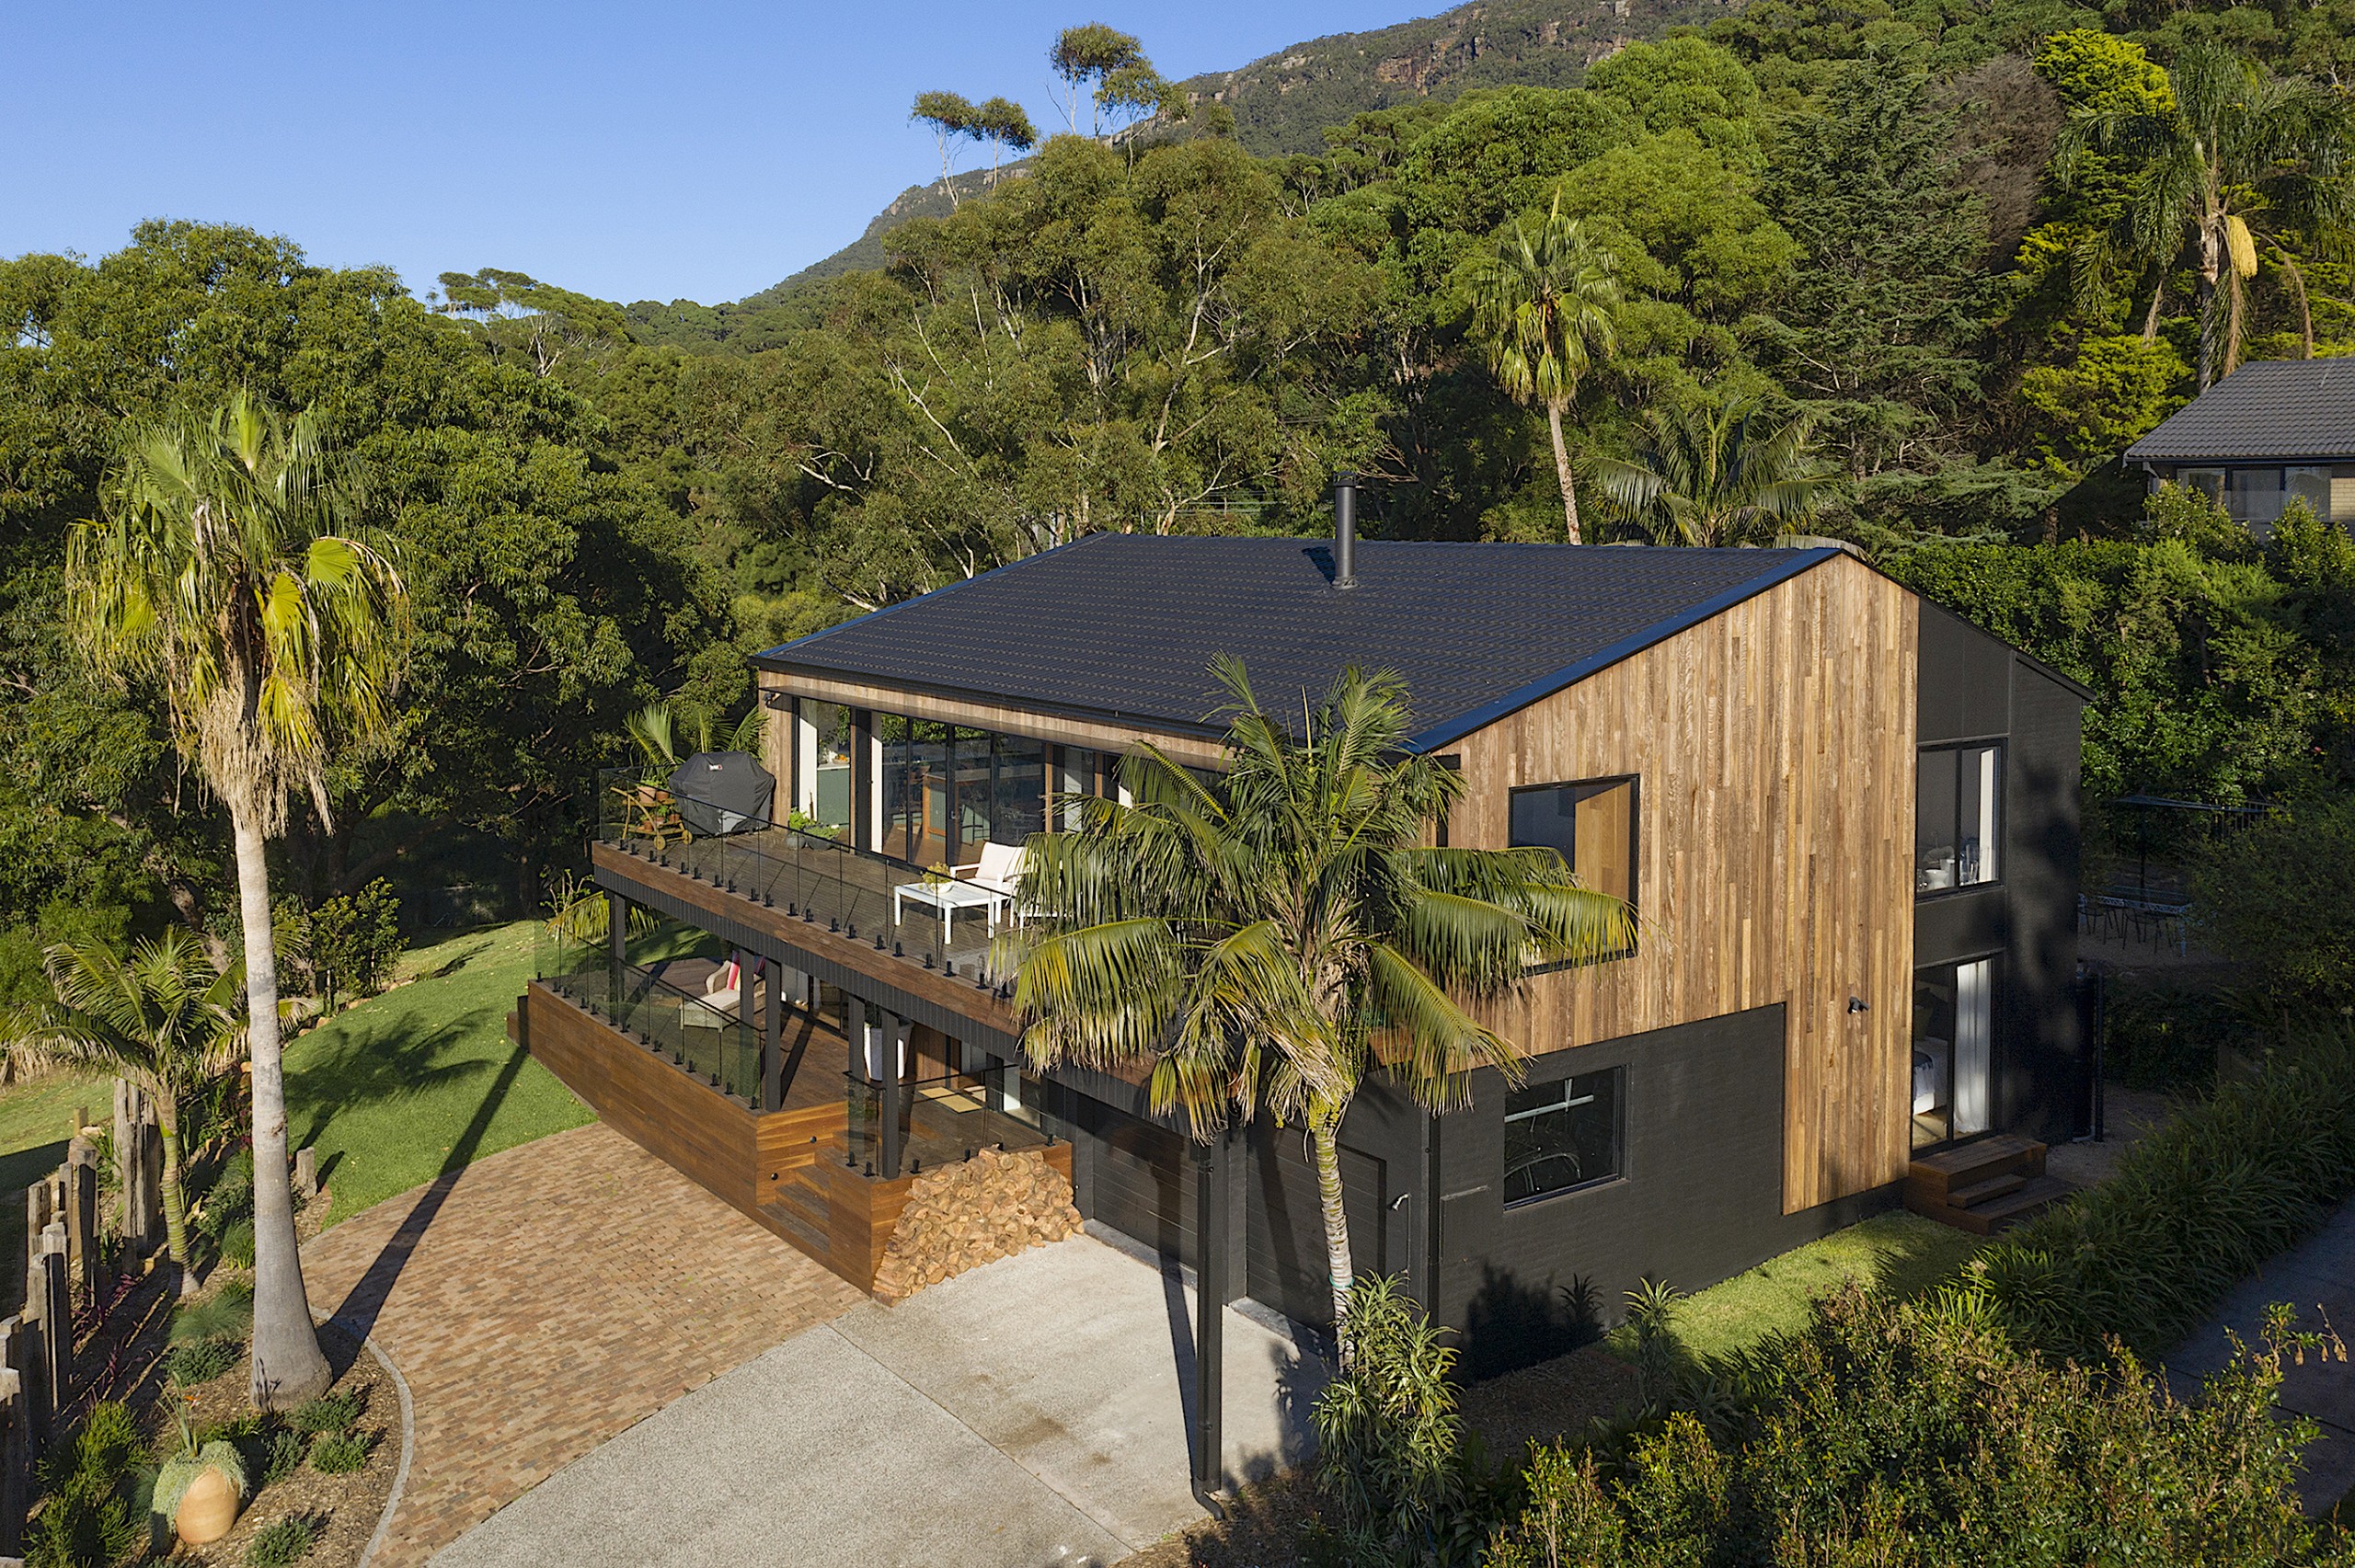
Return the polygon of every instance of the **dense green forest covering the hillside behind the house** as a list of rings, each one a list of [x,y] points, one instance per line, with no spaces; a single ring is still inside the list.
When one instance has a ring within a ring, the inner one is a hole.
[[[756,311],[417,297],[179,221],[0,261],[0,991],[61,935],[236,921],[212,805],[80,671],[59,570],[122,421],[228,388],[318,410],[414,596],[396,742],[285,843],[304,904],[532,904],[638,704],[739,711],[749,650],[1090,530],[1324,532],[1338,469],[1413,539],[1561,539],[1566,490],[1590,542],[1691,539],[1613,501],[1684,473],[1712,539],[1851,539],[2094,685],[2094,800],[2334,796],[2355,549],[2145,504],[2117,454],[2244,358],[2355,351],[2350,68],[2355,0],[1754,0],[1307,153],[1185,94],[1119,139],[1076,115],[888,266]],[[1566,381],[1484,327],[1540,233],[1583,280]],[[1710,511],[1745,471],[1792,504]]]

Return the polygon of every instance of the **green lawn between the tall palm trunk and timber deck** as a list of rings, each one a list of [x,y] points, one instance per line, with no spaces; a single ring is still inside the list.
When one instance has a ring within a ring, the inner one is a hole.
[[[532,979],[535,921],[438,939],[405,986],[339,1012],[287,1048],[287,1132],[318,1149],[330,1222],[499,1149],[593,1121],[506,1038]]]

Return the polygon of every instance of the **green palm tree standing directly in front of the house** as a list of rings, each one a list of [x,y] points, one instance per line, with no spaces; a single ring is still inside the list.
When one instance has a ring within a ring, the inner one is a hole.
[[[1029,841],[1020,897],[1043,918],[1008,939],[1015,1005],[1041,1067],[1149,1057],[1154,1111],[1196,1135],[1258,1104],[1305,1125],[1342,1328],[1352,1095],[1387,1071],[1446,1109],[1474,1067],[1519,1078],[1521,1050],[1467,1003],[1533,961],[1623,951],[1630,916],[1554,850],[1425,843],[1462,782],[1404,753],[1397,676],[1345,671],[1293,737],[1239,664],[1213,669],[1234,697],[1222,777],[1142,744],[1123,765],[1135,805],[1076,800],[1076,831]]]

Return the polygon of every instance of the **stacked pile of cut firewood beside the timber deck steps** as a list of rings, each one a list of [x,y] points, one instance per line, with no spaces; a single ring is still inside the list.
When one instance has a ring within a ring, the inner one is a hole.
[[[876,1269],[876,1297],[904,1302],[966,1269],[1079,1234],[1072,1180],[1036,1149],[982,1149],[926,1170]]]

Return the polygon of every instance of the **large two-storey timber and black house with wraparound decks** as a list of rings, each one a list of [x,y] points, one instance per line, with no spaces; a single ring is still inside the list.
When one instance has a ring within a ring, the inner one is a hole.
[[[772,815],[805,826],[683,836],[622,779],[593,845],[617,911],[732,961],[678,986],[617,918],[518,1034],[862,1288],[911,1187],[1003,1144],[1166,1257],[1208,1238],[1229,1300],[1328,1321],[1300,1130],[1196,1170],[1142,1069],[1036,1074],[989,970],[1072,796],[1140,739],[1220,768],[1220,652],[1269,706],[1399,671],[1413,749],[1467,784],[1444,841],[1554,845],[1639,913],[1632,951],[1493,1008],[1526,1085],[1481,1071],[1444,1116],[1371,1088],[1342,1125],[1356,1267],[1474,1370],[1550,1349],[1580,1281],[1616,1316],[1898,1201],[1988,1229],[2054,1196],[2039,1140],[2089,1116],[2087,692],[1839,549],[1093,534],[787,643],[754,664]]]

